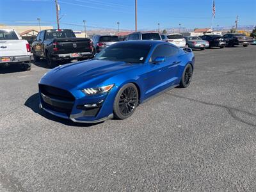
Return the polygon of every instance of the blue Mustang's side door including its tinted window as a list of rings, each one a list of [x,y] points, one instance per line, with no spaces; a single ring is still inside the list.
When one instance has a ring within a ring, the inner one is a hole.
[[[145,97],[150,97],[176,83],[179,57],[179,48],[172,45],[158,45],[148,65],[147,81],[145,81]],[[154,63],[157,57],[164,57],[164,61]]]

